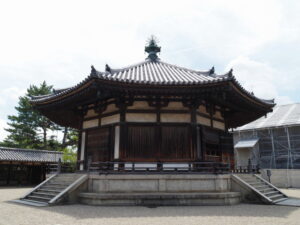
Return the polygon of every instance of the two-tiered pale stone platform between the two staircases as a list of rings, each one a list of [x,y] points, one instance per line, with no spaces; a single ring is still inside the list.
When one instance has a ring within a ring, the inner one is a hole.
[[[229,174],[110,174],[89,175],[88,190],[79,202],[90,205],[233,205]]]

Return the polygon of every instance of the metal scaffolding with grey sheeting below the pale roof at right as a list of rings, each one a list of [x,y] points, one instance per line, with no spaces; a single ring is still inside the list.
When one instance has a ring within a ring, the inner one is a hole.
[[[251,160],[260,168],[300,169],[300,126],[237,131],[234,141],[258,138]]]

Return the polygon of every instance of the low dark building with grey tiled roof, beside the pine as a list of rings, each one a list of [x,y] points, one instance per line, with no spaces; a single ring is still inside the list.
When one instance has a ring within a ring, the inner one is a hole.
[[[49,164],[58,163],[57,151],[0,147],[0,185],[31,185],[45,180]]]

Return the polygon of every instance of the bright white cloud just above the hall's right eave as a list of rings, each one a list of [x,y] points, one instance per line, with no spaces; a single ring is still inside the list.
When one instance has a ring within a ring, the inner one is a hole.
[[[226,69],[230,68],[234,69],[234,75],[242,86],[248,91],[253,91],[257,97],[275,98],[279,104],[292,102],[290,97],[280,93],[282,86],[292,84],[292,81],[284,79],[282,73],[268,64],[240,56],[232,60]]]

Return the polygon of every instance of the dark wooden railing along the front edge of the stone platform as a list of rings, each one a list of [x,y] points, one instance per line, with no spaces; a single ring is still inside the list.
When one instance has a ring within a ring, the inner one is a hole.
[[[108,173],[230,173],[230,167],[222,162],[92,162],[89,172]]]

